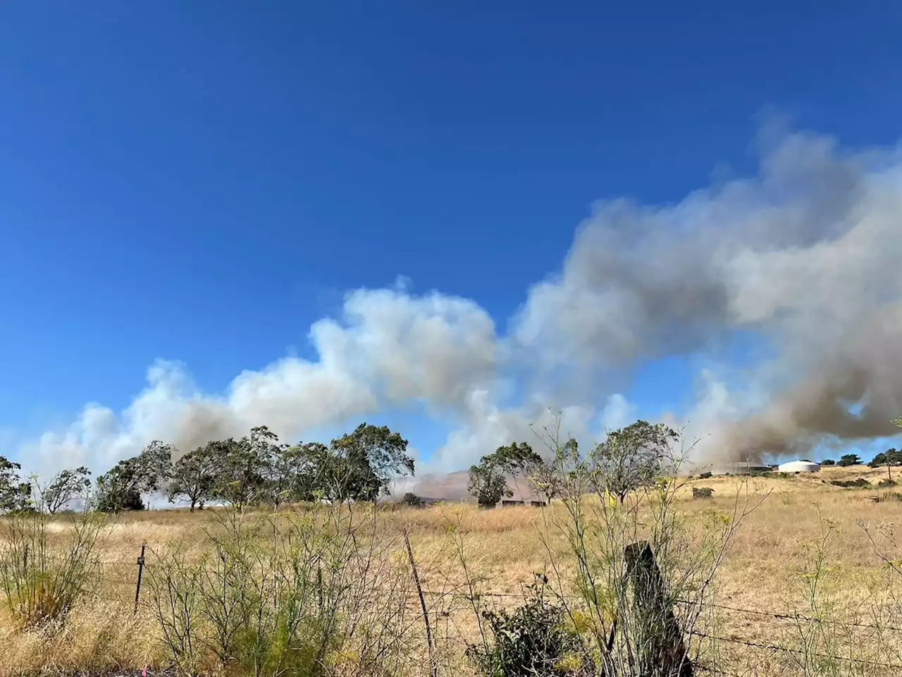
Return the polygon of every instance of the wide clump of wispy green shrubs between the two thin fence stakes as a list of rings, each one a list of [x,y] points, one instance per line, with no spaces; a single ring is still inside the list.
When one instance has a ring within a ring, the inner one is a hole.
[[[400,673],[410,573],[389,528],[374,506],[217,513],[199,556],[176,545],[146,570],[167,660],[191,677]]]

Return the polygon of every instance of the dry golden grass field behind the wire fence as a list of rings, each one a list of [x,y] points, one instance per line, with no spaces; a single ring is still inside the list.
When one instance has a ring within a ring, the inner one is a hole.
[[[891,629],[902,628],[902,607],[897,605],[902,575],[893,562],[902,559],[902,552],[889,543],[890,524],[902,518],[902,502],[888,496],[892,489],[829,484],[833,479],[868,478],[876,485],[884,477],[885,468],[824,468],[792,478],[692,479],[676,491],[675,506],[685,517],[690,548],[695,543],[692,534],[709,524],[711,515],[730,515],[737,496],[741,501],[752,496],[749,505],[754,506],[732,534],[709,590],[713,596],[706,593],[695,633],[687,637],[700,656],[699,673],[902,673],[882,665],[902,664],[902,631]],[[693,499],[692,487],[713,488],[713,498]],[[290,523],[291,512],[275,518],[273,533],[281,533],[282,522]],[[367,560],[359,588],[349,582],[343,594],[360,596],[362,606],[384,605],[378,612],[384,617],[358,609],[355,622],[408,633],[403,642],[389,643],[403,646],[402,662],[383,672],[429,672],[404,533],[410,536],[425,592],[437,674],[474,672],[464,650],[479,636],[476,612],[518,606],[524,586],[537,572],[548,575],[549,587],[558,594],[576,594],[575,557],[561,529],[568,519],[563,504],[481,511],[474,505],[447,503],[370,512],[366,519],[372,531],[365,541],[372,547],[378,534],[380,546]],[[165,582],[173,553],[180,553],[183,561],[200,557],[207,533],[215,532],[222,518],[221,511],[169,510],[122,515],[102,525],[97,542],[101,567],[90,581],[89,594],[78,599],[65,622],[23,628],[10,609],[3,608],[0,675],[165,669],[171,658],[154,591]],[[65,538],[72,519],[64,515],[51,521],[51,546],[55,538]],[[272,522],[271,515],[248,519]],[[135,614],[136,562],[143,545],[146,569]],[[380,569],[374,572],[377,560]],[[477,591],[482,593],[478,598]],[[389,608],[400,598],[404,601]],[[341,660],[334,661],[332,673],[363,673],[354,667],[362,660],[348,654],[344,668]]]

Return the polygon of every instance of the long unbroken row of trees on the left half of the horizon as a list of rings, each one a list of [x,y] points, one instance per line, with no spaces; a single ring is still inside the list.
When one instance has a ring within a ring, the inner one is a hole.
[[[46,485],[20,477],[0,456],[0,511],[56,513],[79,500],[106,513],[142,510],[143,496],[162,493],[193,512],[209,504],[280,505],[298,501],[373,501],[393,478],[414,474],[408,441],[387,426],[361,423],[329,444],[286,444],[266,426],[235,440],[209,441],[179,455],[152,441],[92,483],[85,467],[60,471]]]

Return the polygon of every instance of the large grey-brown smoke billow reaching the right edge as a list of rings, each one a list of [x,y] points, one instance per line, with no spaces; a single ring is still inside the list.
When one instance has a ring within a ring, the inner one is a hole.
[[[892,435],[900,215],[897,150],[846,153],[828,137],[783,136],[764,149],[756,179],[663,209],[597,205],[562,273],[530,290],[516,337],[537,361],[577,374],[713,350],[737,330],[759,335],[775,357],[690,414],[693,430],[711,433],[701,448],[711,458]]]

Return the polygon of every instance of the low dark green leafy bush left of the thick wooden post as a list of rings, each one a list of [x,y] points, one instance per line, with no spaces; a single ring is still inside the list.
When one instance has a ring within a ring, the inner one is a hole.
[[[487,633],[470,645],[467,657],[483,677],[562,677],[594,674],[566,608],[549,602],[539,584],[529,587],[523,606],[483,611]]]

